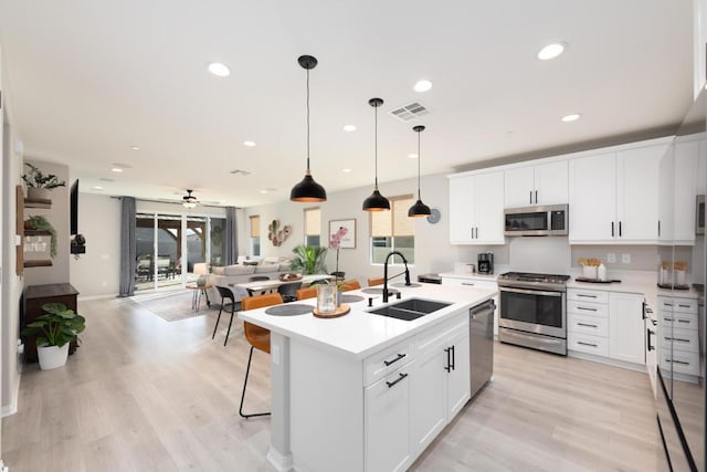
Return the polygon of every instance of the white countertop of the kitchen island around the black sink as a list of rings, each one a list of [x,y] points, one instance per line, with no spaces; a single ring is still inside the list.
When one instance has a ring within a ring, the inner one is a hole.
[[[468,310],[479,303],[493,298],[497,291],[469,286],[445,286],[439,284],[414,284],[419,286],[405,287],[393,284],[401,293],[401,300],[391,296],[388,304],[382,303],[379,294],[363,292],[366,289],[345,292],[347,295],[359,295],[361,301],[350,303],[351,311],[337,318],[318,318],[312,313],[294,316],[277,316],[265,313],[267,308],[239,312],[239,318],[267,328],[285,337],[297,338],[304,343],[317,345],[327,350],[337,352],[361,359],[368,355],[391,346],[399,340],[428,329],[445,321],[460,310]],[[380,289],[380,286],[379,286]],[[373,306],[368,306],[368,298],[373,297]],[[424,298],[436,302],[452,303],[437,312],[424,315],[413,321],[390,318],[368,313],[384,305],[394,304],[402,300]],[[316,306],[316,298],[308,298],[296,304]]]

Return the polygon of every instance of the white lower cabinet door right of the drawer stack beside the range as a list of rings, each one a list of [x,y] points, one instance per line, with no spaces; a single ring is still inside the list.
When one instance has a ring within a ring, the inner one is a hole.
[[[609,357],[645,364],[643,295],[609,294]]]

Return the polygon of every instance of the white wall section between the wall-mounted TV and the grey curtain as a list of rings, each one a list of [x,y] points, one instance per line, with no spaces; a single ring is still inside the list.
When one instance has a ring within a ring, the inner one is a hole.
[[[120,200],[103,195],[78,195],[78,232],[86,253],[71,256],[70,280],[82,298],[116,295],[120,275]]]

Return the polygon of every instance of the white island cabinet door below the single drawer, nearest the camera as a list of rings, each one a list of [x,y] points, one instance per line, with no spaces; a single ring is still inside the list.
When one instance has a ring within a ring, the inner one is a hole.
[[[414,360],[366,389],[366,470],[402,471],[409,465],[413,364]]]

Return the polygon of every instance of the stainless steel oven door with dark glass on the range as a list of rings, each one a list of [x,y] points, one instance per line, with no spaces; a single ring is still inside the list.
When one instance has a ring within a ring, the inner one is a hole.
[[[498,325],[511,329],[567,338],[564,292],[498,287]]]

